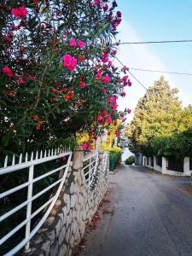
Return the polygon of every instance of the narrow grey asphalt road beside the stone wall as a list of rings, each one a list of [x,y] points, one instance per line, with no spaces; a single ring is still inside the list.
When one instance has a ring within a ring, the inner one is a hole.
[[[190,179],[122,166],[80,256],[192,256]]]

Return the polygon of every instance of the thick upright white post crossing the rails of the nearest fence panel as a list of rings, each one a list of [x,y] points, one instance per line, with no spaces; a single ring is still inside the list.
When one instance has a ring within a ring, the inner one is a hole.
[[[29,240],[30,238],[30,231],[31,231],[31,215],[32,215],[32,179],[33,179],[33,172],[34,172],[34,166],[29,167],[29,176],[28,176],[28,191],[27,191],[27,207],[26,207],[26,219],[28,218],[28,221],[26,223],[26,239]],[[30,241],[27,241],[25,252],[30,252]]]

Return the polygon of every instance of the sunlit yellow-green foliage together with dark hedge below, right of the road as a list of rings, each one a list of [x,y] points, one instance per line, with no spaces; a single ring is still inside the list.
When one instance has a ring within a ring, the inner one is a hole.
[[[134,119],[126,127],[130,150],[147,156],[189,154],[192,109],[182,108],[177,89],[163,77],[149,87],[137,103]]]

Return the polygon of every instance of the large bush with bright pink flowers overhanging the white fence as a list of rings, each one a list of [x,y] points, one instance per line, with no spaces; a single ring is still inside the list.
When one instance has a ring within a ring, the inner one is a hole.
[[[108,0],[0,3],[0,154],[96,137],[131,82],[113,66],[121,21]],[[124,68],[123,72],[126,73]]]

